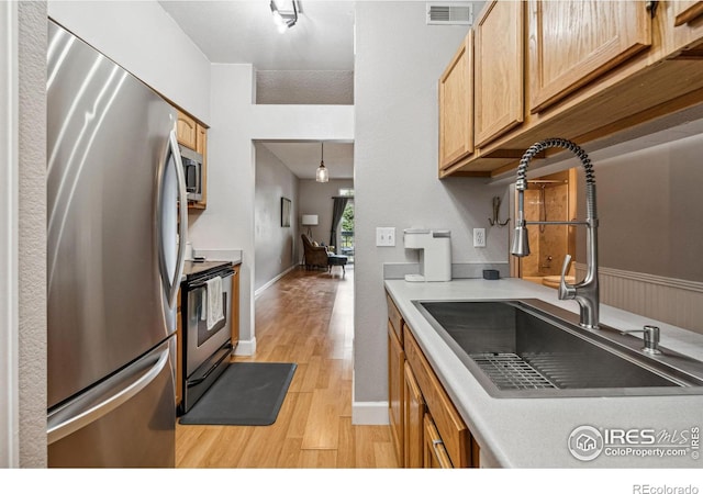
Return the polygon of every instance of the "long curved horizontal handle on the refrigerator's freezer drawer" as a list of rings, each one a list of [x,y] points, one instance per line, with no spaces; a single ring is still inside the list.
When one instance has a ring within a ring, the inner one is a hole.
[[[92,424],[136,396],[158,377],[168,363],[169,356],[170,350],[166,347],[158,356],[156,363],[154,363],[147,372],[144,373],[144,369],[138,369],[134,375],[126,378],[133,382],[127,381],[124,385],[120,385],[120,391],[107,398],[102,398],[104,391],[98,386],[92,393],[88,392],[80,400],[53,414],[54,416],[49,415],[47,444],[56,442]],[[98,397],[100,397],[100,400],[98,400]]]

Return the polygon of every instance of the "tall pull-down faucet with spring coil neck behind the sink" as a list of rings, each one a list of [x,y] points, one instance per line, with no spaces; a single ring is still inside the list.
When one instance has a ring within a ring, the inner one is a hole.
[[[549,147],[562,147],[572,151],[583,165],[585,170],[585,201],[587,217],[584,222],[533,222],[525,220],[525,190],[527,189],[527,165],[536,154]],[[567,255],[561,267],[561,281],[559,283],[559,300],[576,300],[581,307],[581,326],[588,329],[598,329],[599,325],[599,285],[598,285],[598,215],[595,214],[595,177],[593,165],[588,155],[574,143],[562,138],[549,138],[533,144],[523,155],[517,168],[517,220],[515,222],[515,236],[511,254],[517,257],[529,255],[529,242],[527,225],[585,225],[587,231],[587,270],[585,278],[577,284],[566,282],[566,273],[571,262],[571,256]]]

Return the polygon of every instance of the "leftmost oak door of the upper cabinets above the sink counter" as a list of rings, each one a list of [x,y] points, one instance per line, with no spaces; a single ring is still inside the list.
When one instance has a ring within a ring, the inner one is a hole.
[[[473,153],[473,33],[439,78],[439,169]]]

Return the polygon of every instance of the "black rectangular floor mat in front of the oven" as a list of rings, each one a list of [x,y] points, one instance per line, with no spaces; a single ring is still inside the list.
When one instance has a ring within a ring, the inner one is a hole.
[[[271,425],[295,363],[234,362],[182,417],[183,425]]]

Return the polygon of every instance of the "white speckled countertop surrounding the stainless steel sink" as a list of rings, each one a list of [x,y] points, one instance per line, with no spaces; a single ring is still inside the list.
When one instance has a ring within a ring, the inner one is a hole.
[[[684,438],[691,446],[692,428],[703,427],[703,395],[495,398],[461,363],[412,301],[540,299],[578,314],[574,301],[557,300],[556,290],[518,279],[465,279],[436,283],[386,280],[386,289],[432,363],[439,380],[481,448],[481,464],[509,468],[702,468],[693,459],[700,449],[682,457],[640,457],[603,452],[591,461],[576,459],[568,439],[579,426],[601,433],[613,429],[654,429],[656,445],[667,453],[671,442]],[[703,360],[703,335],[601,304],[601,323],[617,329],[656,324],[660,346]],[[681,435],[683,433],[683,436]],[[631,433],[636,434],[636,433]],[[660,435],[669,435],[668,441]],[[627,446],[627,445],[625,445]],[[641,448],[634,448],[641,451]],[[633,449],[633,450],[634,450]],[[703,449],[703,448],[702,448]],[[694,451],[695,450],[695,451]]]

